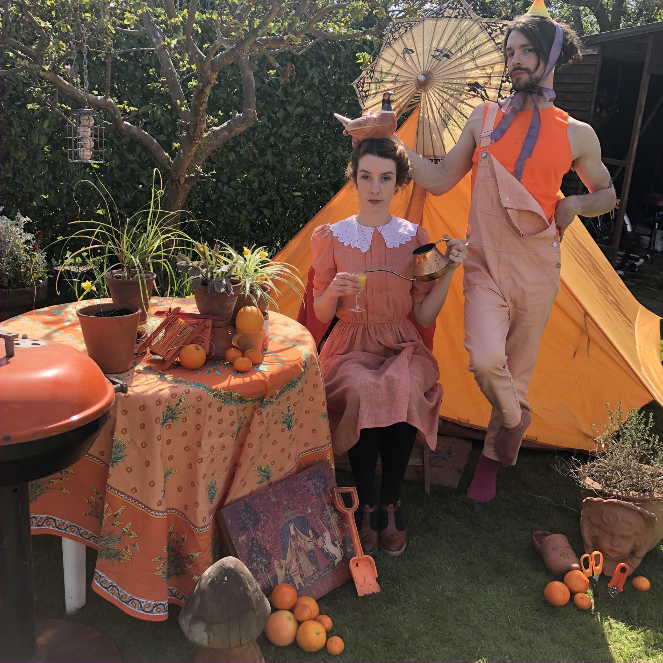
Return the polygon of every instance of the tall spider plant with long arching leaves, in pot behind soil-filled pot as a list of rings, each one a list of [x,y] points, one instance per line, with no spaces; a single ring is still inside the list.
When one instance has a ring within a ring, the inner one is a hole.
[[[162,274],[170,290],[176,280],[172,258],[193,243],[176,225],[180,212],[161,209],[163,191],[160,182],[159,187],[156,187],[157,174],[160,179],[160,173],[155,168],[149,202],[133,215],[124,215],[123,218],[101,182],[100,186],[90,180],[78,182],[76,187],[88,184],[101,196],[103,207],[99,213],[103,221],[72,221],[72,224],[82,227],[66,238],[63,249],[66,250],[67,263],[85,255],[93,272],[93,286],[101,286],[101,289],[108,292],[113,304],[138,306],[141,323],[147,320],[150,310],[155,272]],[[75,251],[68,250],[72,245],[81,244],[82,247]],[[58,273],[58,279],[61,273]],[[78,282],[74,288],[78,295]]]

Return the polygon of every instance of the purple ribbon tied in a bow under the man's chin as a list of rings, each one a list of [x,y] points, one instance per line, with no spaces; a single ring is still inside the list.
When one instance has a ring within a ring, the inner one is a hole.
[[[552,42],[552,48],[550,48],[550,57],[548,58],[548,64],[546,64],[546,69],[544,74],[541,77],[541,80],[544,80],[550,72],[555,68],[557,60],[560,57],[562,52],[562,42],[564,42],[564,34],[562,34],[562,28],[555,23],[555,38]],[[552,88],[542,88],[541,86],[535,86],[529,90],[522,90],[518,92],[512,92],[506,99],[498,101],[500,109],[502,109],[503,116],[502,119],[497,124],[497,127],[493,130],[491,139],[493,141],[499,141],[507,129],[511,127],[512,122],[516,119],[516,114],[522,106],[522,102],[525,100],[526,95],[532,97],[534,101],[534,112],[532,113],[532,120],[530,121],[530,127],[527,130],[527,135],[522,143],[520,148],[520,154],[518,154],[518,160],[516,161],[516,168],[514,170],[514,176],[520,182],[522,178],[522,168],[525,164],[525,161],[532,156],[534,152],[534,145],[536,145],[536,139],[538,138],[539,129],[541,128],[541,113],[538,107],[538,98],[542,97],[544,101],[554,101],[555,100],[555,91]]]

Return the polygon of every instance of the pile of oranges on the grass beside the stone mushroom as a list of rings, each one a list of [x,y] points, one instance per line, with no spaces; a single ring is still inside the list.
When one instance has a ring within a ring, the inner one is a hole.
[[[345,643],[339,636],[327,638],[333,623],[327,615],[320,615],[318,603],[310,596],[297,596],[297,591],[280,583],[272,590],[272,613],[265,625],[267,639],[279,647],[286,647],[295,640],[305,652],[320,651],[327,645],[328,653],[340,654]]]

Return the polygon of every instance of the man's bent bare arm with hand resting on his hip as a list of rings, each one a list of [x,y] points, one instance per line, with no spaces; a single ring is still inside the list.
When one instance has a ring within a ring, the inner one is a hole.
[[[577,121],[573,121],[569,129],[575,156],[573,168],[589,193],[568,196],[558,202],[555,223],[560,231],[560,240],[576,215],[597,216],[612,210],[617,202],[610,173],[601,161],[601,145],[594,130]]]

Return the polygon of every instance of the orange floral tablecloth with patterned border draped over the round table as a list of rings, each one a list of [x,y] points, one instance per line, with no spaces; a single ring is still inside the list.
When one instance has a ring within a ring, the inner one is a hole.
[[[76,308],[90,303],[30,312],[3,329],[85,351]],[[171,303],[196,311],[193,300],[156,298],[152,310]],[[184,604],[219,556],[219,507],[312,464],[333,467],[314,341],[290,318],[269,321],[269,349],[249,373],[211,360],[162,372],[157,357],[137,358],[118,375],[129,392],[117,394],[90,452],[30,484],[32,533],[96,548],[94,591],[134,617],[160,621],[168,603]]]

